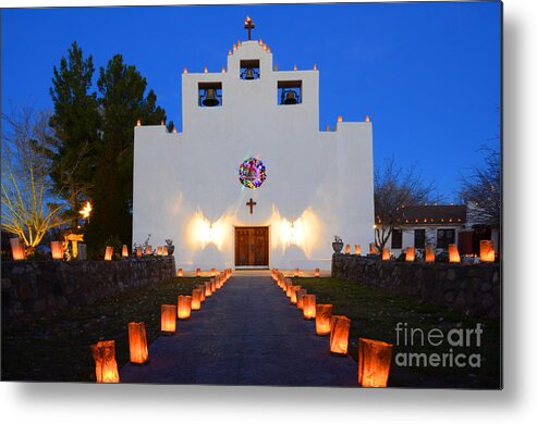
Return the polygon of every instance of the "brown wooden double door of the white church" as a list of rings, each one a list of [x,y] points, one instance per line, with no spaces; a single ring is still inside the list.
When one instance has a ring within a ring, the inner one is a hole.
[[[268,266],[268,227],[235,227],[235,266]]]

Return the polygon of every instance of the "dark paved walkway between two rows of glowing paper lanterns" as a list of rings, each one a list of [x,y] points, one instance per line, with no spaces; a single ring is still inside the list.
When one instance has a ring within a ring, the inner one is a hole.
[[[149,347],[149,362],[126,364],[122,383],[356,386],[356,362],[329,353],[269,276],[234,276],[173,336]]]

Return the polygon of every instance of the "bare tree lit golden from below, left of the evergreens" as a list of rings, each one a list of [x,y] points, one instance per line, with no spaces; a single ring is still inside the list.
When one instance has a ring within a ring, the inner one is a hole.
[[[2,114],[2,121],[1,226],[34,250],[48,229],[64,223],[65,203],[49,191],[49,114],[19,108]]]

